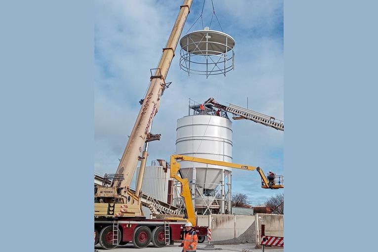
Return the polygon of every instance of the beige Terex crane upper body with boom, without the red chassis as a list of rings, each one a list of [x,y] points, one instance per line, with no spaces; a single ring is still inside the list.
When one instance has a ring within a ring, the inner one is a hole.
[[[143,216],[140,210],[139,193],[148,155],[148,142],[160,139],[159,134],[151,134],[151,125],[155,115],[158,113],[161,96],[165,88],[169,86],[169,83],[166,83],[166,77],[192,1],[193,0],[184,0],[184,3],[180,6],[180,11],[174,22],[168,42],[163,48],[163,54],[158,67],[151,69],[150,84],[146,95],[140,101],[141,108],[127,141],[116,174],[108,174],[105,176],[105,179],[111,181],[110,187],[104,185],[95,188],[95,215],[115,215],[118,209],[114,210],[113,205],[109,204],[116,203],[127,204],[127,208],[122,210],[123,215]],[[151,39],[153,40],[153,38]],[[142,149],[144,146],[145,148]],[[141,161],[141,168],[138,175],[136,192],[133,193],[129,190],[129,187],[138,161]]]

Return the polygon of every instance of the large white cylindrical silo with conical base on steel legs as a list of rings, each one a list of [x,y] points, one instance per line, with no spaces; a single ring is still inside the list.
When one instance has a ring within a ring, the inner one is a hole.
[[[228,118],[214,115],[178,119],[176,154],[232,162],[231,125]],[[224,213],[231,168],[181,161],[180,169],[191,184],[197,212]]]

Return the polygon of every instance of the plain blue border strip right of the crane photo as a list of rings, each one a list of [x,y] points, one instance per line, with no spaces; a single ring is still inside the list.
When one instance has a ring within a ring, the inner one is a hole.
[[[285,0],[286,251],[374,250],[377,5]]]

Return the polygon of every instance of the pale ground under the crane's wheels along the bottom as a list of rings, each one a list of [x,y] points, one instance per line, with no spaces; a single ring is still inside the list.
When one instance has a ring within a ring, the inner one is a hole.
[[[150,246],[148,246],[147,248],[144,248],[144,249],[136,249],[132,246],[132,244],[126,244],[125,246],[119,246],[119,247],[117,247],[113,250],[104,250],[104,249],[101,249],[101,246],[96,245],[94,247],[94,249],[98,250],[98,252],[105,252],[105,251],[107,251],[107,252],[110,252],[110,251],[112,251],[112,252],[127,252],[127,251],[128,252],[129,251],[138,252],[139,250],[141,252],[143,252],[143,251],[144,252],[147,252],[147,251],[152,251],[152,252],[181,252],[182,248],[178,247],[179,244],[180,243],[175,243],[175,245],[168,245],[168,246],[163,247],[163,248],[155,248],[155,247],[152,246],[152,243],[151,243]],[[199,250],[199,249],[205,248],[206,246],[207,246],[206,243],[201,243],[201,244],[197,245],[197,252],[201,252],[201,251],[205,252],[205,250]],[[255,246],[254,243],[235,244],[235,245],[215,245],[214,249],[211,250],[211,251],[216,252],[216,251],[220,251],[219,249],[221,249],[221,251],[224,251],[224,252],[229,252],[229,251],[242,252],[243,250],[249,250],[250,252],[261,252],[261,249],[254,249],[254,246]],[[265,251],[266,252],[284,252],[284,250],[281,249],[281,248],[274,248],[274,249],[265,248]]]

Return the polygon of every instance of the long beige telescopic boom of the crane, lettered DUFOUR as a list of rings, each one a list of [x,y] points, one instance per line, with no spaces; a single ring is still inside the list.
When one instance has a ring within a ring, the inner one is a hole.
[[[142,152],[143,145],[150,137],[149,128],[156,113],[158,113],[160,99],[166,88],[165,79],[170,63],[174,57],[174,50],[189,14],[192,1],[193,0],[184,0],[183,5],[180,6],[180,11],[174,22],[167,45],[163,48],[163,55],[160,58],[158,68],[153,69],[155,70],[154,74],[151,71],[151,81],[148,90],[144,96],[142,106],[116,172],[117,174],[123,174],[124,180],[120,180],[117,185],[112,184],[112,186],[130,186],[137,163],[141,159],[139,155]]]

